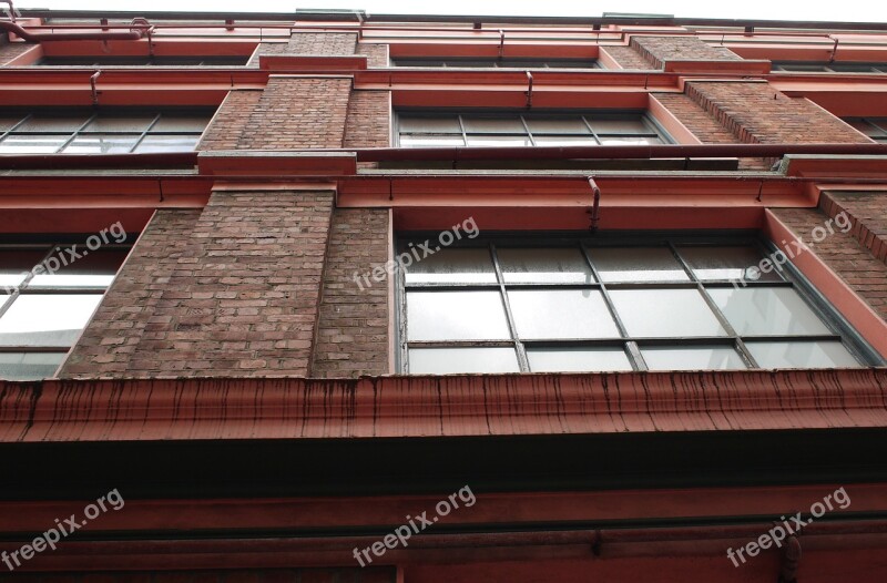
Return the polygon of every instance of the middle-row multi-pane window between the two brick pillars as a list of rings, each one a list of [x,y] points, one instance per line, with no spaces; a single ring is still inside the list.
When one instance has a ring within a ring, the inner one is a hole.
[[[401,113],[398,134],[402,147],[670,143],[643,112]]]

